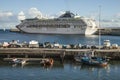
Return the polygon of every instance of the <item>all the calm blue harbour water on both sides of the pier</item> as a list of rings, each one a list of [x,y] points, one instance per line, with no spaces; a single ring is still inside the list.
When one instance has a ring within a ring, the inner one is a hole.
[[[0,31],[0,42],[19,40],[20,42],[38,40],[39,42],[58,42],[60,44],[98,45],[97,35],[40,35]],[[119,36],[101,36],[101,44],[109,39],[111,43],[120,45]],[[63,64],[55,61],[52,67],[42,67],[39,64],[13,66],[0,62],[0,80],[119,80],[120,61],[110,61],[107,67],[91,67],[72,61]]]

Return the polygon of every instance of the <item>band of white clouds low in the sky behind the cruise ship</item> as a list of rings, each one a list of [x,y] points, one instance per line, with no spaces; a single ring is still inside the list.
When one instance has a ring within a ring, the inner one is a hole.
[[[37,8],[30,8],[28,11],[20,11],[18,14],[14,14],[11,11],[0,11],[0,28],[3,28],[3,26],[5,28],[13,28],[20,23],[20,20],[23,20],[25,18],[57,18],[64,13],[64,11],[60,11],[57,14],[53,15],[43,14]],[[91,18],[95,18],[95,20],[98,22],[97,13],[93,13],[91,15]],[[120,13],[117,13],[110,17],[107,16],[107,18],[102,17],[101,27],[120,27]]]

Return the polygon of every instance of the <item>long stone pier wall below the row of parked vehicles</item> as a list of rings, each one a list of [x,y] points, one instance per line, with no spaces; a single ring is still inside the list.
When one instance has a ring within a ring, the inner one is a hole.
[[[94,51],[95,56],[120,60],[120,49],[0,48],[0,57],[74,59],[75,55],[84,55],[90,51]]]

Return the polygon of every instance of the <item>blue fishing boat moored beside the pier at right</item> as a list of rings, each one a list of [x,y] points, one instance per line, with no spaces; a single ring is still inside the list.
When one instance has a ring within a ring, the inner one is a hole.
[[[107,64],[108,64],[108,62],[104,58],[88,57],[88,56],[81,57],[81,63],[86,64],[86,65],[101,66],[101,67],[107,66]]]

